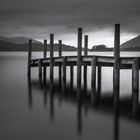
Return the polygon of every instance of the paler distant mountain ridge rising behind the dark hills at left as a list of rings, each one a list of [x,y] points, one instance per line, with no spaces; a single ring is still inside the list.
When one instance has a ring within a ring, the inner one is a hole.
[[[29,38],[26,37],[0,37],[0,40],[4,40],[6,42],[9,43],[13,43],[13,44],[25,44],[28,43]],[[39,43],[42,44],[41,42],[34,40],[33,39],[33,43]]]

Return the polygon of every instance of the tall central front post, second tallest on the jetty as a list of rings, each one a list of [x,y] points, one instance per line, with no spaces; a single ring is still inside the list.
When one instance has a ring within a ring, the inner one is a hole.
[[[81,92],[81,55],[82,55],[82,28],[78,28],[78,52],[77,52],[77,94]]]

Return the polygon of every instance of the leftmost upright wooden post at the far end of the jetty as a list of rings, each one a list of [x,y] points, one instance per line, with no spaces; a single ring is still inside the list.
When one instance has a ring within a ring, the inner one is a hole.
[[[28,72],[27,74],[31,74],[31,57],[32,57],[32,40],[29,40],[29,49],[28,49]]]

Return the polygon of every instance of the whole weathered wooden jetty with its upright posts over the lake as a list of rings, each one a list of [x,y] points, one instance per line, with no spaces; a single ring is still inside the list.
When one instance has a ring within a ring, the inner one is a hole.
[[[115,24],[114,33],[114,57],[111,56],[96,56],[88,55],[88,36],[84,36],[84,55],[82,55],[82,28],[78,28],[78,50],[77,56],[62,56],[62,40],[59,40],[59,56],[54,57],[53,51],[54,34],[50,34],[50,57],[47,57],[47,40],[44,40],[44,55],[43,58],[32,59],[32,40],[29,40],[28,52],[28,75],[31,75],[31,68],[38,67],[39,79],[42,76],[45,82],[46,67],[50,67],[50,82],[53,82],[53,68],[59,67],[59,78],[61,79],[63,89],[66,85],[66,67],[70,67],[70,77],[73,80],[73,67],[77,66],[77,95],[80,96],[81,89],[81,67],[84,66],[84,73],[86,67],[91,66],[91,86],[93,94],[100,97],[101,94],[101,78],[102,67],[113,67],[113,95],[114,107],[119,105],[120,92],[120,69],[132,69],[132,111],[137,113],[138,110],[138,95],[139,95],[139,57],[120,57],[120,24]],[[98,68],[98,69],[97,69]],[[96,72],[96,69],[98,72]],[[42,72],[43,71],[43,72]],[[98,77],[98,92],[96,93],[96,75]],[[127,79],[126,79],[127,80]]]

